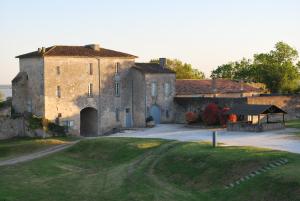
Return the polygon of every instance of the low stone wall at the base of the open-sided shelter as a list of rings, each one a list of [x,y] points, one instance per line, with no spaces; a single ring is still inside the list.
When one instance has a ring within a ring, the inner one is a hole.
[[[249,124],[249,123],[228,123],[227,131],[245,131],[245,132],[263,132],[269,130],[284,129],[284,123],[263,123],[263,124]]]

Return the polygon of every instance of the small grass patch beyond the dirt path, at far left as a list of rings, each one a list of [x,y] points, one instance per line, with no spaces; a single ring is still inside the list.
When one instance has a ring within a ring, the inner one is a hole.
[[[49,148],[51,146],[64,144],[73,139],[74,138],[13,138],[8,140],[0,140],[0,160],[29,154]]]

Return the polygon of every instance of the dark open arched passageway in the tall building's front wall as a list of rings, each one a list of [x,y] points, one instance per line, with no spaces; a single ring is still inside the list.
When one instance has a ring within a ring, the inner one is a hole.
[[[80,135],[96,136],[98,134],[98,112],[87,107],[80,111]]]

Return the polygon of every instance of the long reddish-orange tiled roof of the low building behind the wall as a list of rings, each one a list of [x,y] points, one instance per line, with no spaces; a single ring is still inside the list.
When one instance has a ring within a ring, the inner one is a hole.
[[[243,92],[260,92],[261,90],[243,84]],[[213,80],[176,80],[177,95],[212,94]],[[215,80],[215,93],[241,93],[241,83],[232,80]]]

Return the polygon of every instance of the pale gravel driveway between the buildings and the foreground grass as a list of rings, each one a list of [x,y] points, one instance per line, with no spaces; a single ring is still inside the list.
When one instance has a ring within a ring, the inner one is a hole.
[[[217,141],[225,145],[255,146],[271,148],[293,153],[300,153],[300,137],[293,135],[299,130],[287,128],[285,130],[253,132],[228,132],[217,130]],[[135,131],[124,131],[109,137],[161,138],[179,141],[211,141],[212,130],[186,128],[181,124],[161,124],[155,128]]]

